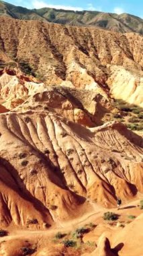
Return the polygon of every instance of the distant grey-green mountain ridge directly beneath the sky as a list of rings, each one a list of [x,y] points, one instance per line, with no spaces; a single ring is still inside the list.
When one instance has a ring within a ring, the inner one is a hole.
[[[26,9],[0,1],[0,15],[19,20],[40,20],[70,26],[95,26],[114,32],[143,34],[143,20],[128,13],[117,15],[99,11],[66,11],[50,8]]]

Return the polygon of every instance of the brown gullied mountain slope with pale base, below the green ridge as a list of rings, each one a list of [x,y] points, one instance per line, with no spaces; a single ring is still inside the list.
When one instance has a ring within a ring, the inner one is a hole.
[[[142,106],[143,39],[139,34],[5,17],[0,21],[2,69],[17,67],[44,79],[48,86],[98,90]]]

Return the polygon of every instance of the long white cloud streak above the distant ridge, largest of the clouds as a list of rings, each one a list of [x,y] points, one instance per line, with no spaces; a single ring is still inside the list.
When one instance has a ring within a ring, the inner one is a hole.
[[[32,2],[32,5],[36,9],[48,7],[48,8],[54,8],[54,9],[64,9],[64,10],[73,10],[73,11],[83,11],[83,8],[81,7],[74,7],[74,6],[66,6],[66,5],[49,5],[48,3],[45,3],[44,1],[38,1],[34,0]]]

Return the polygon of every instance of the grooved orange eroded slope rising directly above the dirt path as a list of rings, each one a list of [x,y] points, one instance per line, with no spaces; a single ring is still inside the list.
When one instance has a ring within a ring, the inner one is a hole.
[[[0,122],[1,226],[42,228],[83,214],[87,198],[113,207],[143,192],[143,141],[120,123],[86,129],[48,110]]]

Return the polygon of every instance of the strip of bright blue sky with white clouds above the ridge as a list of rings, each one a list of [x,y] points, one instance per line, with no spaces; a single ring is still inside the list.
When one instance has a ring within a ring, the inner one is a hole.
[[[54,7],[56,9],[97,10],[105,12],[131,13],[143,18],[143,0],[6,0],[14,5],[33,8]]]

